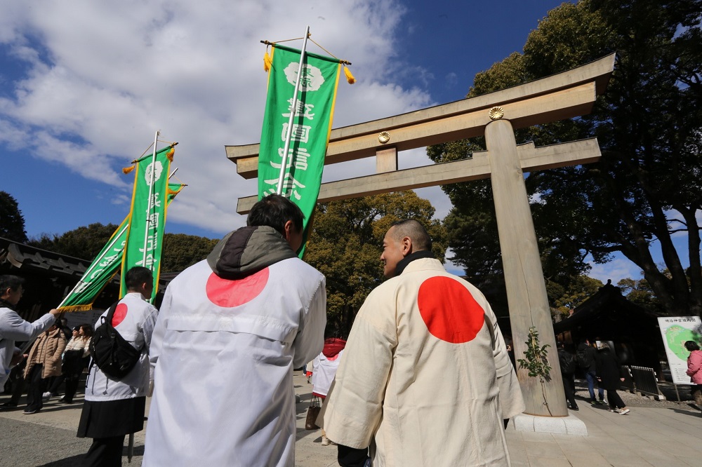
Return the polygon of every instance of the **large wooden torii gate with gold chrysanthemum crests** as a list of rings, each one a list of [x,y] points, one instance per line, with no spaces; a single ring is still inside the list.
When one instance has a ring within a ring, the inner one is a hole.
[[[494,93],[331,131],[325,164],[376,156],[377,173],[322,184],[319,202],[491,178],[515,354],[522,356],[527,349],[531,326],[541,344],[550,345],[551,379],[543,391],[537,378],[517,370],[527,414],[566,417],[568,410],[523,172],[591,163],[601,154],[596,138],[517,146],[514,129],[590,113],[607,87],[614,57]],[[480,135],[485,135],[487,151],[470,159],[397,170],[397,151]],[[225,147],[246,179],[257,176],[258,146]],[[249,212],[257,199],[239,198],[237,212]]]

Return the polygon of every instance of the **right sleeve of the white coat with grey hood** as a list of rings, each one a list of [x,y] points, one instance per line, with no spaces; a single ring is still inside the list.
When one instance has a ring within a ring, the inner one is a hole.
[[[305,365],[322,352],[325,327],[326,280],[322,276],[319,287],[310,300],[310,307],[300,312],[300,326],[293,341],[293,368]]]

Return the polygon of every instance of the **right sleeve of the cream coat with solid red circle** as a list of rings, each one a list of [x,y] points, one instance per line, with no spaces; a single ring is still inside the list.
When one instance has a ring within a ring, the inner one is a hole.
[[[492,324],[491,334],[494,337],[493,355],[495,358],[495,370],[497,385],[500,388],[500,403],[502,406],[502,418],[510,419],[517,414],[524,412],[524,398],[522,398],[522,388],[519,387],[515,368],[512,366],[505,338],[502,336],[497,317],[490,306],[486,306],[485,316],[488,323]]]

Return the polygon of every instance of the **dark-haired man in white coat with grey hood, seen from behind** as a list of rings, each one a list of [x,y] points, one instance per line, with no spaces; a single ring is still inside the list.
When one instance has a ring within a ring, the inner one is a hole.
[[[302,227],[296,205],[267,196],[168,285],[144,466],[294,465],[292,370],[326,326],[324,276],[296,255]]]

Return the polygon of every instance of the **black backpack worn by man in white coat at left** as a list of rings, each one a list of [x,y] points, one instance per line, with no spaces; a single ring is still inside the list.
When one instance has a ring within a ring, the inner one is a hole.
[[[93,363],[112,379],[122,379],[139,361],[141,349],[134,348],[112,327],[112,316],[117,304],[110,306],[107,316],[100,318],[100,326],[93,332],[90,354]]]

